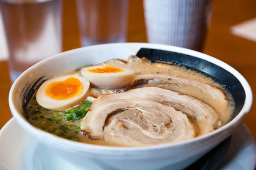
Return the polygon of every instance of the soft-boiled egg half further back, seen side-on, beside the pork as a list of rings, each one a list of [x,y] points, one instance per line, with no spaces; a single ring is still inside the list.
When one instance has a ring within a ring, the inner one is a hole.
[[[102,88],[123,88],[134,79],[134,71],[111,65],[94,65],[81,69],[81,75]]]

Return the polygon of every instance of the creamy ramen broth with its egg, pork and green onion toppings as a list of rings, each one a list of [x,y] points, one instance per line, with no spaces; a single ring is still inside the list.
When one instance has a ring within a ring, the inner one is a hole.
[[[234,110],[232,96],[212,78],[180,65],[136,56],[127,61],[111,59],[54,78],[63,76],[53,82],[53,88],[49,89],[49,83],[42,85],[57,97],[58,109],[49,105],[55,102],[52,99],[42,107],[37,100],[49,96],[35,94],[30,121],[49,133],[84,143],[136,147],[180,142],[225,125]],[[66,77],[77,77],[81,83]],[[86,90],[87,79],[90,88]],[[61,94],[65,88],[67,94]]]

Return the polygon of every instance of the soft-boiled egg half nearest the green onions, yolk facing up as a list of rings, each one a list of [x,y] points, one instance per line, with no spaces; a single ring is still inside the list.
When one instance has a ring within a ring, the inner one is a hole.
[[[90,82],[81,76],[64,75],[44,82],[36,94],[39,105],[52,110],[66,110],[86,98]]]

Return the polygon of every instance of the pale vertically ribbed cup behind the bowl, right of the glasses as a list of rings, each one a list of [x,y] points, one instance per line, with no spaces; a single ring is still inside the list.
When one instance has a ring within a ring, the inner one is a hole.
[[[202,51],[211,0],[144,0],[148,42]]]

